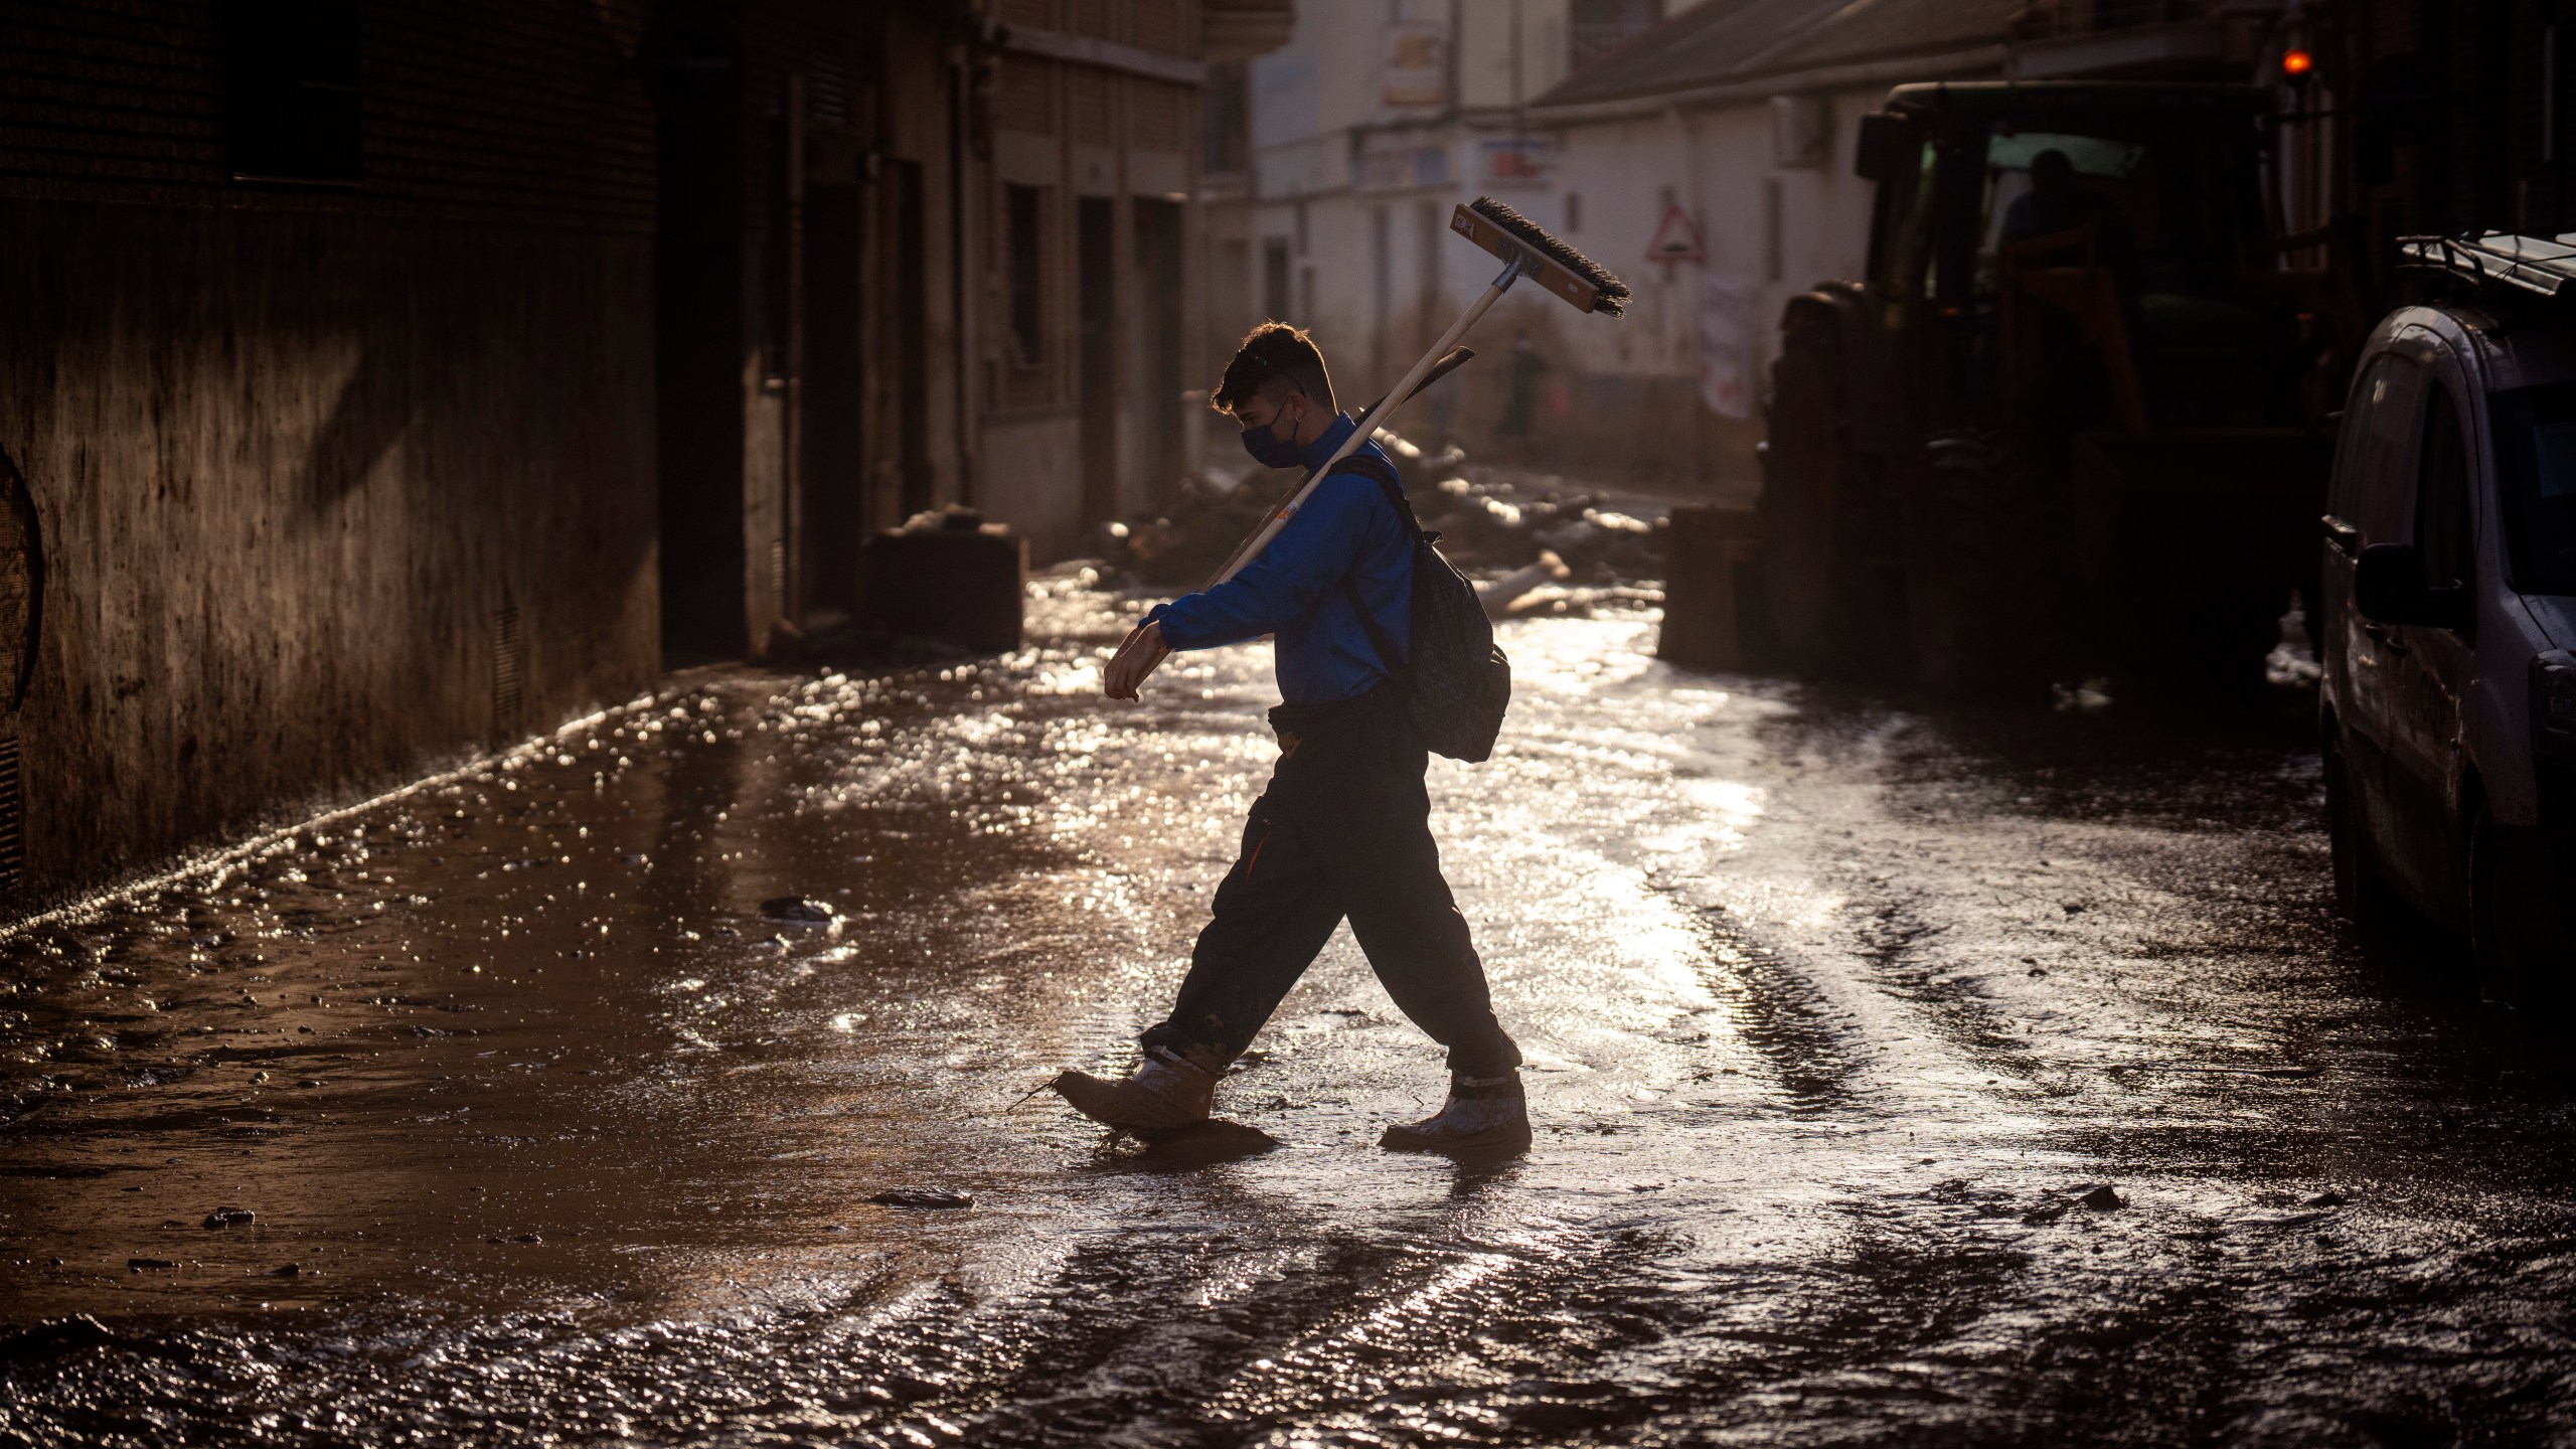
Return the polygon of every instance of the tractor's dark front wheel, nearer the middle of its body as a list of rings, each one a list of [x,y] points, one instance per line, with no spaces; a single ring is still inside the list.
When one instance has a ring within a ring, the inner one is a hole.
[[[2074,580],[2066,490],[2035,449],[1935,438],[1906,511],[1917,683],[1950,696],[2038,694],[2066,660]]]

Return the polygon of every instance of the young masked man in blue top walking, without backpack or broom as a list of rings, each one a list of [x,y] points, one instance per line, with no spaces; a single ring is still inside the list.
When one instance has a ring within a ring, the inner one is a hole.
[[[1311,469],[1352,431],[1334,410],[1324,353],[1306,333],[1255,327],[1211,400],[1244,428],[1265,467]],[[1370,464],[1358,464],[1358,456]],[[1376,443],[1345,459],[1231,580],[1146,614],[1108,665],[1103,691],[1136,699],[1170,650],[1213,650],[1278,634],[1280,761],[1252,802],[1234,869],[1216,887],[1190,975],[1172,1013],[1144,1034],[1123,1080],[1064,1073],[1056,1091],[1121,1129],[1172,1129],[1213,1111],[1216,1083],[1270,1021],[1332,928],[1350,933],[1386,995],[1448,1047],[1443,1109],[1388,1127],[1386,1147],[1515,1150],[1530,1142],[1520,1047],[1494,1021],[1484,962],[1440,877],[1422,771],[1430,755],[1406,719],[1394,670],[1360,608],[1404,647],[1414,541],[1368,472],[1394,464]]]

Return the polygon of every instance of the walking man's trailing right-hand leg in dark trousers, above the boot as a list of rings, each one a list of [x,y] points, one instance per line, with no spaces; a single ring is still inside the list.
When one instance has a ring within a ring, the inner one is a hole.
[[[1314,856],[1332,871],[1350,933],[1386,995],[1448,1047],[1450,1073],[1510,1075],[1520,1047],[1494,1018],[1484,962],[1440,874],[1430,794],[1422,789],[1430,758],[1404,724],[1401,706],[1334,740],[1332,755],[1314,766],[1321,768],[1296,799],[1296,817]]]

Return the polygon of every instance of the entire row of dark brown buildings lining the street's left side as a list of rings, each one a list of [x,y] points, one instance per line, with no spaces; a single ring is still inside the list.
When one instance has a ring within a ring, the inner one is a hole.
[[[1285,0],[23,0],[0,890],[760,657],[1182,469],[1208,46]]]

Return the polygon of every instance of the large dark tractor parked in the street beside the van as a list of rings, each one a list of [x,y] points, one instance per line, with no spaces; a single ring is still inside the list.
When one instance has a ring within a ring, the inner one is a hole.
[[[2267,206],[2254,85],[1901,85],[1870,273],[1783,315],[1770,627],[1947,694],[2249,688],[2313,598],[2360,297]],[[2342,248],[2336,248],[2342,250]]]

